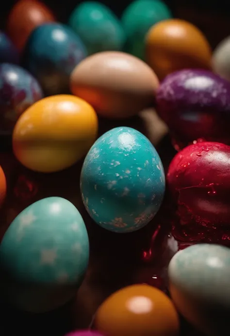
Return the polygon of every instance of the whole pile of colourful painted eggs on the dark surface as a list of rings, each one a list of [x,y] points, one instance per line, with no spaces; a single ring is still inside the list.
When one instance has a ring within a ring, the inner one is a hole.
[[[166,177],[148,138],[123,126],[153,107],[178,151]],[[103,118],[120,126],[98,138]],[[191,245],[169,262],[170,295],[121,288],[96,311],[96,330],[68,336],[179,336],[180,315],[204,335],[229,335],[229,127],[229,37],[212,52],[161,0],[135,0],[120,19],[84,1],[66,24],[38,0],[16,2],[0,32],[0,135],[12,138],[16,159],[37,174],[68,174],[84,159],[82,202],[114,234],[146,226],[167,188],[172,234]],[[0,167],[1,206],[7,182]],[[0,295],[27,312],[56,309],[76,295],[89,251],[79,210],[61,197],[40,199],[2,238]]]

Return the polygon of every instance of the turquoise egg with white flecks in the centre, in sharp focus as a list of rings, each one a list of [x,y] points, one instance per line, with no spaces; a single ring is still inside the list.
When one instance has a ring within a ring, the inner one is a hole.
[[[161,206],[164,189],[156,149],[133,128],[103,134],[82,166],[83,203],[94,221],[110,231],[131,232],[148,224]]]

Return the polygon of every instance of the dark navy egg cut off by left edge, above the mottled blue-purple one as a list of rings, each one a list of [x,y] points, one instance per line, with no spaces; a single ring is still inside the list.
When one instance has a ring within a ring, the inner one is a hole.
[[[19,63],[19,54],[9,37],[0,31],[0,63]]]

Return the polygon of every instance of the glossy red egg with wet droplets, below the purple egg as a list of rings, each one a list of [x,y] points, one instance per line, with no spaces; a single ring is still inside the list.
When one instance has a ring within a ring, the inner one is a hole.
[[[185,147],[169,165],[167,185],[178,208],[178,240],[230,242],[230,146]]]

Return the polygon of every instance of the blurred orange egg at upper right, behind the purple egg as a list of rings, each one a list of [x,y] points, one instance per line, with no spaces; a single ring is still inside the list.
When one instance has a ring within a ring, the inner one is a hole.
[[[161,21],[146,36],[146,61],[160,80],[185,68],[210,69],[211,57],[206,37],[184,20]]]

